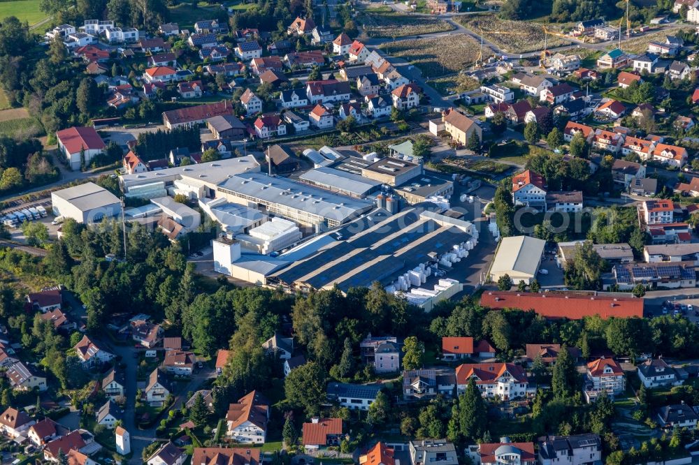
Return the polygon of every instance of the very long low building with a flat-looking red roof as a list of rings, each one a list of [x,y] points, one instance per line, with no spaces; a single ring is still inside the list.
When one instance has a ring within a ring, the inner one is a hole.
[[[602,318],[643,317],[643,300],[635,297],[603,297],[574,293],[518,293],[492,291],[483,293],[481,305],[491,309],[533,310],[545,318],[579,320],[586,316]]]

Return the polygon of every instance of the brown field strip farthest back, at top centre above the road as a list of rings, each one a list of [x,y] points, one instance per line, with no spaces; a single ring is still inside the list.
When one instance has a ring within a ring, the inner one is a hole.
[[[369,37],[408,37],[454,30],[451,24],[435,17],[406,15],[387,6],[368,8],[357,16]]]

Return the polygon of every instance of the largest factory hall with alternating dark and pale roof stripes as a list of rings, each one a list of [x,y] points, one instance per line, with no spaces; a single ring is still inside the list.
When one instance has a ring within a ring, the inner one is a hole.
[[[468,242],[468,248],[477,242],[475,227],[468,221],[423,207],[405,209],[392,216],[377,210],[317,237],[310,244],[282,253],[281,260],[293,263],[267,276],[266,283],[291,292],[333,286],[346,292],[379,281],[387,288],[402,291],[425,284],[426,274],[430,273],[427,270],[449,270],[452,263],[461,259],[456,252]]]

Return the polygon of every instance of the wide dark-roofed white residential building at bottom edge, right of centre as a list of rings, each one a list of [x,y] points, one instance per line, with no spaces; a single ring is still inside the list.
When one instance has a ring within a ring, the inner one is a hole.
[[[541,436],[537,445],[540,465],[591,465],[602,460],[602,441],[597,434]]]

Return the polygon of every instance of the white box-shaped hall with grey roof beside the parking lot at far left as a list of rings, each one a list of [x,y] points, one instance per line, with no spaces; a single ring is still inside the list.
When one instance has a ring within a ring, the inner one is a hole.
[[[84,224],[116,216],[121,210],[117,196],[93,182],[52,192],[51,204],[56,216]]]

